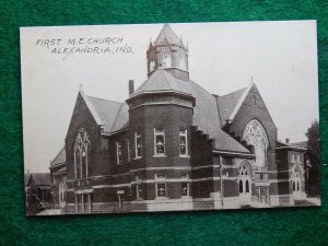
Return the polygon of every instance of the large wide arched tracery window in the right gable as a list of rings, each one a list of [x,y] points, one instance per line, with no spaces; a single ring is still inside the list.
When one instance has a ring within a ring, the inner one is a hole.
[[[267,159],[268,137],[258,120],[253,119],[247,124],[243,133],[243,140],[245,140],[247,144],[254,145],[256,166],[263,167]]]

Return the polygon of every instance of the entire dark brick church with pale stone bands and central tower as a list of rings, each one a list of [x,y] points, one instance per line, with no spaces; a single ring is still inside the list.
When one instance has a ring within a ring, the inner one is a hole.
[[[277,141],[253,82],[222,96],[202,89],[167,24],[147,59],[147,81],[129,81],[124,103],[78,93],[50,164],[66,213],[263,208],[305,196],[306,149]]]

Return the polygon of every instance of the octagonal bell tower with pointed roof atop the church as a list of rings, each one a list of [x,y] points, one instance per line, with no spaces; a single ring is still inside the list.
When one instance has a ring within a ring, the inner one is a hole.
[[[188,47],[168,24],[165,24],[147,50],[148,77],[164,69],[180,80],[189,80]]]

